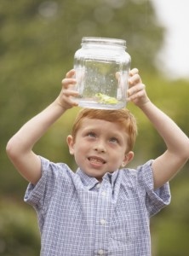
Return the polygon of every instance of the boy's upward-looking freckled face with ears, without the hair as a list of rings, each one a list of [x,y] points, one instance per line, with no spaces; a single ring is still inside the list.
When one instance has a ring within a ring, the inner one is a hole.
[[[101,180],[106,172],[115,172],[133,159],[127,152],[127,139],[123,128],[101,119],[84,118],[75,142],[67,137],[70,153],[77,166],[90,177]]]

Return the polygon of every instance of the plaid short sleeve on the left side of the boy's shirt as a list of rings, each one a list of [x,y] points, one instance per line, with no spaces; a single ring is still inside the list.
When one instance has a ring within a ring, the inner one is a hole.
[[[36,210],[39,229],[42,231],[49,205],[58,195],[63,194],[62,188],[67,190],[67,186],[70,186],[72,171],[64,163],[56,164],[43,157],[40,159],[42,177],[35,186],[29,183],[24,200]]]

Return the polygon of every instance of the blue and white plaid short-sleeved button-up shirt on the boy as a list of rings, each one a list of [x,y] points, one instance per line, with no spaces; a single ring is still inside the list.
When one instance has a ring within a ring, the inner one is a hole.
[[[106,173],[42,160],[42,177],[25,201],[37,211],[42,256],[150,256],[149,218],[169,204],[169,184],[153,190],[152,160]]]

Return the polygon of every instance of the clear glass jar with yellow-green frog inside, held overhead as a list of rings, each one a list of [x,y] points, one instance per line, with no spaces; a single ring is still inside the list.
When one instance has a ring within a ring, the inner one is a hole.
[[[126,106],[130,56],[126,41],[82,38],[74,56],[77,102],[83,108],[118,109]]]

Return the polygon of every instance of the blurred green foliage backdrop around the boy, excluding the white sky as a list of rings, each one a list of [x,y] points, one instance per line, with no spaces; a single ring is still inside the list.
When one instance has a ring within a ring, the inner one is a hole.
[[[21,125],[58,96],[83,36],[125,39],[132,67],[139,68],[152,102],[189,134],[189,81],[168,79],[159,71],[163,63],[157,55],[165,32],[152,2],[146,0],[0,1],[0,255],[39,255],[36,213],[23,202],[27,183],[11,165],[5,148]],[[162,154],[165,146],[143,113],[132,104],[127,107],[139,125],[130,165],[135,167]],[[66,136],[77,111],[67,111],[66,126],[60,119],[34,148],[73,170]],[[187,163],[170,181],[170,206],[152,218],[152,256],[188,254],[188,167]]]

